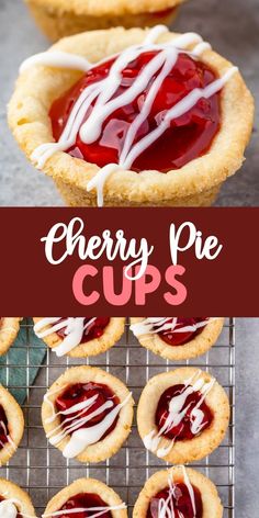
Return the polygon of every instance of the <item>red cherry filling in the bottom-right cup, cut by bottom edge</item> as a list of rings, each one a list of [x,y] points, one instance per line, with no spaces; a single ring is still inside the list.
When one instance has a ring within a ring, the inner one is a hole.
[[[192,486],[192,489],[194,496],[194,509],[188,486],[183,482],[178,482],[173,484],[173,491],[166,487],[150,499],[146,518],[159,518],[161,516],[159,510],[161,509],[161,506],[165,506],[169,495],[171,498],[168,502],[168,509],[170,511],[171,506],[173,506],[174,518],[202,518],[203,506],[201,493],[195,486]],[[171,516],[171,513],[168,515],[166,514],[165,516]]]

